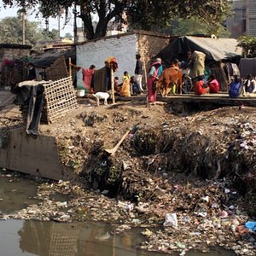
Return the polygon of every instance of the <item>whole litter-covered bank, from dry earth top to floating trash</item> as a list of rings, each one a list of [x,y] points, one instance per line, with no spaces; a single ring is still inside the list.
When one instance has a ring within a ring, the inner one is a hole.
[[[72,119],[39,127],[56,137],[63,165],[79,178],[42,183],[38,205],[3,218],[106,221],[119,234],[142,227],[140,247],[148,251],[221,246],[256,254],[256,109],[177,116],[167,103],[84,106]],[[54,193],[69,198],[53,201]]]

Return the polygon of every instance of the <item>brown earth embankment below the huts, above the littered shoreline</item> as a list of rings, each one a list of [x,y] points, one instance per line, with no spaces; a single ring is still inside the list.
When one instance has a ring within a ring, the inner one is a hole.
[[[164,189],[197,179],[228,179],[255,215],[255,108],[177,115],[163,102],[150,108],[139,101],[96,107],[94,100],[83,98],[79,103],[50,129],[41,125],[40,132],[56,137],[62,163],[73,166],[87,188],[131,201],[153,200],[162,177],[168,181]],[[128,130],[116,153],[106,153]]]

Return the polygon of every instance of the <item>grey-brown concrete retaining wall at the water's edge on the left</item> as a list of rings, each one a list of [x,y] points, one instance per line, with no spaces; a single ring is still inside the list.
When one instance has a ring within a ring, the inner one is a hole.
[[[10,131],[7,148],[0,148],[0,167],[55,180],[74,176],[61,165],[55,137],[28,136],[25,129]]]

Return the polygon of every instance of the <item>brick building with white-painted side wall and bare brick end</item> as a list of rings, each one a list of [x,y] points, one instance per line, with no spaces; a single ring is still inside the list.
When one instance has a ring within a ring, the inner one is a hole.
[[[130,75],[134,75],[136,65],[135,55],[139,53],[143,61],[144,75],[143,83],[145,83],[146,73],[150,65],[150,61],[157,55],[160,49],[169,44],[170,37],[166,35],[155,34],[153,32],[127,32],[106,38],[98,38],[81,44],[77,44],[77,65],[79,67],[90,67],[94,64],[97,68],[104,67],[104,61],[108,57],[116,58],[119,68],[114,76],[122,78],[124,71],[128,71]],[[82,72],[78,73],[78,85],[83,84]]]

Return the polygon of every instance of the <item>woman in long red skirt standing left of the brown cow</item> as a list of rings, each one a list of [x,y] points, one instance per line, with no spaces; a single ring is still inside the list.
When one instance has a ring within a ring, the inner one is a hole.
[[[154,86],[154,82],[160,78],[160,75],[163,72],[161,62],[160,58],[156,58],[148,71],[148,103],[156,102],[157,90]]]

